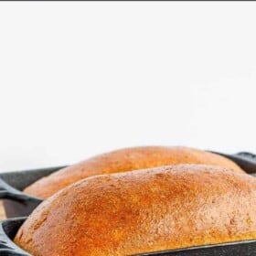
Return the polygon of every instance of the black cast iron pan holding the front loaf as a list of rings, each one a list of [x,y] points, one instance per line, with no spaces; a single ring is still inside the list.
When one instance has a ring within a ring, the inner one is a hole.
[[[6,219],[0,223],[0,255],[1,256],[31,256],[20,249],[13,239],[16,232],[26,218]],[[242,240],[237,242],[222,243],[216,245],[204,245],[178,249],[172,251],[155,251],[139,254],[140,256],[255,256],[256,240]],[[138,256],[138,255],[137,255]]]

